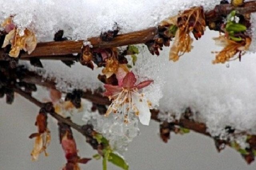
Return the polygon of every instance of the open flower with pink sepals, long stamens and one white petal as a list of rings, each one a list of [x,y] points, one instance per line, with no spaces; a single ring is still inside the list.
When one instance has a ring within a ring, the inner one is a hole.
[[[149,107],[151,107],[152,104],[147,101],[144,94],[138,93],[138,90],[150,85],[152,82],[152,80],[148,80],[135,85],[135,75],[129,72],[121,82],[118,82],[118,86],[104,85],[106,88],[104,95],[108,96],[109,99],[114,99],[108,107],[106,116],[110,113],[114,113],[119,118],[119,115],[121,115],[124,122],[128,123],[130,119],[129,114],[134,113],[139,117],[143,125],[149,125],[151,117]]]

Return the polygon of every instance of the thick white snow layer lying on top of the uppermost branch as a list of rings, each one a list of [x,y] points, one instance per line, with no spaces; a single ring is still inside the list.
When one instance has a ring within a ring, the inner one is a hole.
[[[99,36],[115,25],[121,32],[156,26],[192,6],[213,8],[216,0],[1,0],[0,20],[15,15],[20,28],[36,32],[39,42],[52,41],[58,30],[72,40]]]

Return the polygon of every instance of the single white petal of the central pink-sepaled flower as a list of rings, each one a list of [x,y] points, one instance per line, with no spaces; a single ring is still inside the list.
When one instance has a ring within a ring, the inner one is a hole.
[[[134,105],[139,111],[140,123],[142,125],[149,125],[151,113],[148,107],[148,102],[146,101],[146,99],[142,99],[142,101],[140,101],[139,97],[134,97],[134,99],[135,98],[137,100],[134,100]]]

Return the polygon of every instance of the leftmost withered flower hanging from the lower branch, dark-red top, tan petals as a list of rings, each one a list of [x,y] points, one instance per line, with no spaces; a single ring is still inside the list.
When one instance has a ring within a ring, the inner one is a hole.
[[[38,156],[42,152],[44,152],[45,156],[48,156],[46,147],[50,144],[51,136],[47,128],[47,115],[42,109],[36,117],[36,126],[38,127],[38,132],[29,136],[29,138],[36,138],[34,148],[31,152],[32,160],[38,160]]]

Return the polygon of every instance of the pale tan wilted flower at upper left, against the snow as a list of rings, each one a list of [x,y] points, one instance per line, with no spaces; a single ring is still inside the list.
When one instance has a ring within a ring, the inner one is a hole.
[[[28,51],[28,54],[32,53],[36,48],[36,36],[28,29],[24,30],[24,35],[20,35],[20,30],[14,28],[11,30],[4,39],[2,47],[11,44],[11,51],[9,55],[11,57],[18,57],[20,50]]]

